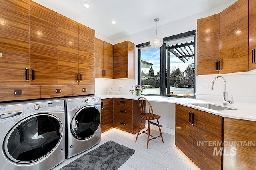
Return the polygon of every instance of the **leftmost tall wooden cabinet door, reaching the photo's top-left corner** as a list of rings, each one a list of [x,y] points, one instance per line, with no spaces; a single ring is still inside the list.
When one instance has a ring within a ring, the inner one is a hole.
[[[2,85],[30,84],[28,81],[29,2],[29,0],[0,1],[0,53],[2,54],[0,84]]]

